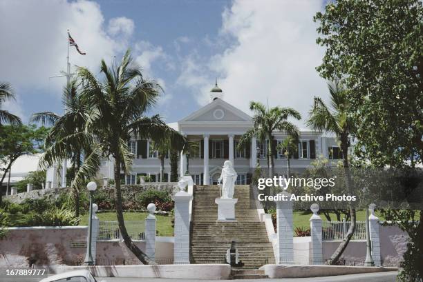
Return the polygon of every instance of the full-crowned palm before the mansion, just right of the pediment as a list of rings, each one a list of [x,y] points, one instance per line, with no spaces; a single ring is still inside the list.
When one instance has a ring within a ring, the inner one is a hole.
[[[292,108],[267,108],[260,102],[250,102],[250,110],[254,112],[254,126],[243,134],[239,141],[238,150],[245,148],[250,143],[252,137],[256,137],[262,143],[267,145],[267,167],[269,168],[269,177],[274,176],[274,150],[276,146],[273,143],[274,130],[285,132],[288,135],[298,136],[297,126],[288,121],[288,117],[301,119],[301,114]]]

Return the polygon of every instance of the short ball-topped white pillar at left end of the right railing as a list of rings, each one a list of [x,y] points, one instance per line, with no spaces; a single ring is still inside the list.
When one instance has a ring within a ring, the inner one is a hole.
[[[319,205],[313,203],[310,207],[313,215],[310,218],[311,230],[311,250],[312,250],[312,264],[323,264],[323,240],[322,240],[322,221],[321,217],[317,214]]]

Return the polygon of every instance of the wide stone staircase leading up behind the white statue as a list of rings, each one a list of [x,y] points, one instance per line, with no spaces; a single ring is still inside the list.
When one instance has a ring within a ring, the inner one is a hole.
[[[235,205],[236,222],[216,221],[218,205],[214,200],[219,197],[217,185],[194,187],[191,263],[226,263],[226,251],[232,241],[236,242],[244,269],[256,269],[274,263],[272,243],[267,239],[265,223],[259,221],[256,209],[250,208],[250,186],[235,187],[234,198],[238,199]]]

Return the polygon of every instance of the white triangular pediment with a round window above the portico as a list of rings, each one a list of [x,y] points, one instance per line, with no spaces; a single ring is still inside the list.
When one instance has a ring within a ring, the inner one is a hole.
[[[190,114],[184,121],[251,121],[251,117],[245,112],[235,108],[233,105],[223,101],[222,99],[216,99],[211,103],[205,105],[200,110]]]

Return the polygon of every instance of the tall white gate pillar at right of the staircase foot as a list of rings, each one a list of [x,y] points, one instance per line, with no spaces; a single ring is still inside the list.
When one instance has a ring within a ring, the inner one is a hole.
[[[294,263],[294,221],[292,214],[291,194],[282,192],[286,201],[276,202],[276,234],[278,239],[277,264]]]

